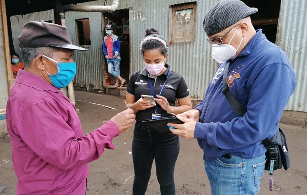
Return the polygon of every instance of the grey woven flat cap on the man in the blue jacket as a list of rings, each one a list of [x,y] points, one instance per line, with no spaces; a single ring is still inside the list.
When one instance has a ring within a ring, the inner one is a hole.
[[[249,7],[241,0],[221,0],[207,13],[203,27],[208,36],[215,35],[257,11],[257,8]]]

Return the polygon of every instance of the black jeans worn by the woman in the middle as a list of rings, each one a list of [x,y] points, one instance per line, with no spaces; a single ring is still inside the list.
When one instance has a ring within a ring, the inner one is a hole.
[[[133,195],[145,195],[151,176],[153,158],[161,195],[175,195],[174,169],[179,154],[179,137],[155,134],[138,122],[132,142],[134,164]]]

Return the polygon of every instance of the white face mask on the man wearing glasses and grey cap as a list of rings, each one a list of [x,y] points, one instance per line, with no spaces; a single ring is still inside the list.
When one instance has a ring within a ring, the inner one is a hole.
[[[238,26],[239,27],[239,26]],[[238,29],[237,27],[237,29]],[[232,35],[231,40],[233,39],[235,33],[237,32],[237,29],[235,30],[234,34]],[[241,43],[243,41],[243,37],[241,39],[241,42],[237,49],[235,49],[232,45],[229,44],[212,44],[211,48],[211,56],[213,59],[215,59],[218,63],[223,63],[229,59],[233,59],[235,57],[235,54],[237,53]]]

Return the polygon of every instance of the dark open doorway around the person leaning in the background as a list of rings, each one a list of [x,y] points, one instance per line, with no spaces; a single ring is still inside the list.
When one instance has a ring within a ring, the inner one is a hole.
[[[128,82],[130,70],[129,9],[116,10],[112,13],[103,13],[103,17],[102,38],[107,35],[104,27],[106,24],[112,23],[115,26],[113,34],[118,37],[120,42],[120,76]],[[104,61],[104,63],[104,67],[106,67],[106,61]],[[111,78],[111,84],[115,84],[116,78],[111,75],[109,77]]]

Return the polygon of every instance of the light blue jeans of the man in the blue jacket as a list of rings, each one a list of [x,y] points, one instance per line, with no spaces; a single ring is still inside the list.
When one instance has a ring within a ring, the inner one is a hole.
[[[211,195],[257,195],[265,164],[265,155],[250,159],[231,155],[205,162]]]

